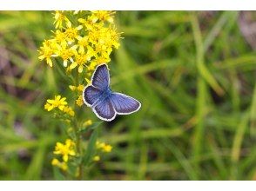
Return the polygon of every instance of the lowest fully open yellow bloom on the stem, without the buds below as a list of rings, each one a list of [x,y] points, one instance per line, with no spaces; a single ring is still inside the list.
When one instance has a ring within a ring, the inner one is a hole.
[[[67,162],[69,160],[69,155],[76,155],[74,147],[75,142],[72,142],[71,139],[67,139],[65,144],[57,142],[53,153],[56,155],[62,155],[63,161]]]

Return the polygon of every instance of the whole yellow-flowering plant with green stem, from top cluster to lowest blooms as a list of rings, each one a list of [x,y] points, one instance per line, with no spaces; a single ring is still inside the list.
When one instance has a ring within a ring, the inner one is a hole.
[[[53,15],[52,36],[38,49],[38,58],[71,80],[66,90],[75,99],[70,104],[63,95],[54,95],[44,104],[46,111],[64,122],[67,135],[64,142],[56,143],[51,164],[61,169],[58,173],[83,179],[84,167],[100,161],[100,155],[111,152],[112,147],[97,141],[99,122],[85,115],[81,119],[77,111],[84,105],[82,92],[94,69],[108,64],[112,50],[118,49],[120,33],[114,24],[114,11],[55,11]],[[85,133],[89,136],[84,140]]]

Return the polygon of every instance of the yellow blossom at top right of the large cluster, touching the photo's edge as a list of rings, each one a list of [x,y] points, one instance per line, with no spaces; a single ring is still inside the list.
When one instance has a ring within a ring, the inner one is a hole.
[[[93,10],[91,11],[92,15],[90,16],[90,19],[93,23],[96,23],[98,20],[99,21],[107,21],[109,23],[113,23],[113,15],[115,12],[109,11],[109,10]]]

